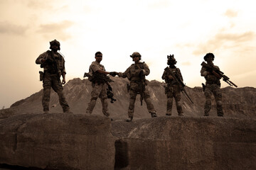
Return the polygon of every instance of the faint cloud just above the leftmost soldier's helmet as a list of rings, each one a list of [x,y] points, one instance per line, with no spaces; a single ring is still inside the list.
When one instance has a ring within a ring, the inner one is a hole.
[[[50,23],[41,25],[38,33],[42,33],[45,38],[58,38],[67,40],[71,35],[67,33],[67,29],[73,26],[72,21],[62,21],[60,23]]]

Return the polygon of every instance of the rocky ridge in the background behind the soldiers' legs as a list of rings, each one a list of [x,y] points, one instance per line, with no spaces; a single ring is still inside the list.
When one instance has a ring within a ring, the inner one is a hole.
[[[127,79],[120,79],[112,77],[114,82],[111,82],[111,86],[114,93],[114,98],[117,99],[114,103],[109,103],[110,115],[114,119],[127,118],[127,108],[129,106],[129,94],[127,92],[126,85],[129,82]],[[148,89],[151,94],[152,102],[156,108],[156,112],[159,116],[165,116],[166,112],[166,95],[164,94],[163,82],[148,81]],[[87,103],[90,101],[90,91],[92,89],[90,81],[87,79],[73,79],[68,81],[64,86],[65,96],[70,105],[73,113],[85,113]],[[190,88],[186,86],[188,95],[193,100],[192,104],[188,101],[186,96],[182,95],[182,103],[184,114],[188,116],[201,116],[203,115],[203,105],[205,97],[201,87]],[[252,87],[232,88],[225,87],[221,89],[223,94],[223,111],[225,116],[235,118],[252,118],[256,116],[256,89]],[[21,101],[11,105],[11,108],[1,110],[0,118],[6,118],[10,115],[23,114],[23,113],[42,113],[41,98],[43,90],[25,98]],[[215,101],[212,96],[212,109],[210,116],[216,116]],[[50,95],[50,112],[61,112],[62,109],[58,103],[58,95],[52,91]],[[94,113],[101,113],[101,103],[97,100]],[[173,115],[177,115],[176,106],[174,102]],[[146,103],[143,102],[143,106],[140,106],[139,95],[137,96],[137,102],[135,103],[134,119],[150,118],[149,113],[146,110]]]

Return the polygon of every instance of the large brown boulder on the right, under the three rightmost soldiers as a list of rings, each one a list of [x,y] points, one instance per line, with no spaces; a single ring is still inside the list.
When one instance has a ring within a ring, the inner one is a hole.
[[[161,117],[112,123],[116,169],[256,169],[256,121]]]

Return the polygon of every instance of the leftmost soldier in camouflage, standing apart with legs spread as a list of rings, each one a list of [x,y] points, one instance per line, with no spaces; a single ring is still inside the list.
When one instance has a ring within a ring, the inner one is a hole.
[[[65,84],[65,60],[60,53],[60,42],[58,40],[50,41],[50,50],[43,52],[36,59],[36,64],[41,64],[43,72],[41,72],[41,81],[43,81],[43,113],[49,113],[49,103],[50,103],[50,87],[58,94],[60,106],[63,108],[63,113],[70,112],[70,107],[68,102],[65,100],[63,94],[63,84]],[[60,76],[63,77],[62,82],[60,81]]]

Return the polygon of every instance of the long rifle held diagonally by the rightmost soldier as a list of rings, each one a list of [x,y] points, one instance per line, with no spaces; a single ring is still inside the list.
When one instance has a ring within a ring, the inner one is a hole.
[[[208,71],[210,73],[212,73],[213,75],[215,75],[215,77],[217,77],[218,79],[223,78],[223,81],[225,81],[230,86],[238,87],[236,84],[234,84],[232,81],[230,81],[229,77],[225,76],[223,72],[216,69],[215,67],[212,67],[212,66],[206,64],[206,62],[202,62],[201,66],[206,67],[206,69],[208,69]]]

